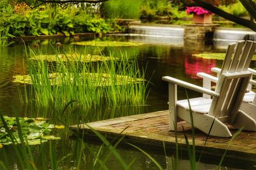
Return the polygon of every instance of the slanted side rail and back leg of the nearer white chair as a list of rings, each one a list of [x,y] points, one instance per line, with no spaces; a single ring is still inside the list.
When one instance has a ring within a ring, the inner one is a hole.
[[[189,111],[185,109],[180,109],[178,107],[178,116],[182,118],[182,120],[187,121],[188,123],[191,123]],[[217,118],[214,118],[214,116],[211,116],[209,114],[201,114],[197,112],[193,112],[193,122],[194,126],[198,128],[199,130],[202,130],[202,132],[205,132],[205,134],[218,136],[218,137],[231,137],[232,134],[228,130],[228,127],[222,123]],[[213,123],[213,125],[212,125]],[[211,128],[212,125],[212,128]]]

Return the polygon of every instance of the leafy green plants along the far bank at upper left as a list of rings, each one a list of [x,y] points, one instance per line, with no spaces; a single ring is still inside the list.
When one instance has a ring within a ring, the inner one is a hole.
[[[74,6],[62,9],[58,6],[44,5],[20,12],[10,4],[6,4],[0,10],[0,14],[3,16],[0,21],[1,26],[10,26],[9,37],[55,34],[69,36],[74,33],[109,33],[122,30],[114,20],[101,19],[99,15],[88,13],[82,8],[74,8]]]

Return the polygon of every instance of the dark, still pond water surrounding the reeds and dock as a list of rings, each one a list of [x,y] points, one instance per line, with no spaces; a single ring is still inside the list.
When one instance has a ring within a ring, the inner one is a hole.
[[[103,38],[104,40],[120,40],[120,41],[136,41],[140,42],[140,37],[138,39],[134,39],[134,36],[120,36],[120,35],[111,35]],[[84,40],[93,40],[93,38],[80,38],[79,41]],[[72,112],[72,116],[67,113],[63,113],[62,111],[56,111],[52,108],[45,107],[35,107],[32,104],[24,104],[20,101],[20,91],[24,93],[24,88],[22,86],[17,86],[17,84],[13,83],[14,75],[24,75],[28,73],[28,59],[26,57],[26,48],[31,48],[33,51],[42,52],[43,54],[54,54],[58,50],[68,51],[70,49],[76,49],[77,51],[83,50],[83,46],[78,45],[70,45],[74,40],[72,38],[60,38],[54,40],[34,40],[34,41],[26,41],[26,42],[15,42],[9,47],[1,48],[0,54],[0,112],[7,116],[21,116],[21,117],[49,117],[52,123],[66,123],[67,125],[72,125],[79,122],[88,122],[88,121],[96,121],[108,118],[114,118],[118,116],[126,116],[131,114],[139,114],[145,112],[154,112],[154,111],[162,111],[168,109],[167,101],[168,101],[168,84],[166,82],[161,81],[161,77],[164,75],[170,75],[177,79],[181,79],[184,81],[191,82],[193,84],[197,84],[202,86],[202,80],[196,77],[196,72],[206,72],[211,73],[211,67],[218,66],[220,67],[222,61],[215,59],[202,59],[195,58],[192,54],[198,52],[224,52],[223,49],[216,49],[214,45],[203,45],[202,47],[193,47],[191,45],[184,45],[181,43],[161,43],[161,38],[157,41],[148,41],[143,42],[143,45],[134,46],[134,47],[86,47],[86,50],[90,53],[104,54],[105,56],[109,56],[110,54],[127,54],[127,56],[134,56],[138,59],[138,66],[141,70],[145,70],[145,79],[150,81],[148,84],[148,96],[146,103],[140,106],[124,106],[124,107],[115,107],[115,108],[106,108],[100,110],[90,110],[93,116],[81,116],[82,111]],[[56,43],[61,43],[61,47],[56,47]],[[26,44],[26,47],[24,47]],[[100,51],[100,52],[99,52]],[[255,67],[255,62],[252,62],[252,67]],[[189,97],[198,97],[200,94],[189,91]],[[179,97],[178,99],[186,98],[184,90],[179,89]],[[58,112],[58,113],[56,113]],[[56,114],[58,114],[58,118],[61,117],[61,120],[54,119]],[[60,114],[63,114],[60,116]],[[67,116],[68,115],[68,116]],[[72,119],[72,120],[71,120]],[[68,132],[68,130],[56,130],[56,135],[61,137],[60,141],[52,141],[54,143],[54,147],[56,149],[56,155],[60,159],[62,157],[67,156],[68,154],[75,151],[76,148],[76,140],[72,140],[70,135],[72,133]],[[93,141],[92,143],[97,143]],[[92,148],[93,151],[99,150],[100,146],[88,143],[88,146]],[[49,146],[44,144],[45,150],[49,150]],[[35,155],[35,162],[40,164],[40,148],[41,146],[31,146],[33,149],[33,155]],[[4,149],[0,149],[0,153],[4,152],[7,155],[13,155],[13,150],[10,146],[5,147]],[[154,165],[154,162],[150,160],[145,154],[141,153],[141,151],[137,151],[131,147],[127,148],[120,147],[118,149],[120,155],[127,160],[127,162],[132,162],[134,155],[136,155],[136,160],[132,166],[132,169],[157,169]],[[157,162],[161,164],[163,167],[168,167],[166,162],[170,164],[170,158],[166,158],[163,155],[163,151],[154,152],[148,151],[152,157],[156,158]],[[172,152],[171,152],[172,153]],[[83,158],[85,162],[84,166],[91,169],[93,167],[93,157],[92,153],[86,151],[84,149]],[[170,155],[170,154],[169,154]],[[0,156],[1,157],[1,156]],[[186,159],[186,156],[184,156]],[[4,159],[3,159],[4,160]],[[9,160],[10,167],[15,168],[17,161],[15,158]],[[70,162],[66,162],[65,164],[61,164],[61,168],[63,169],[72,169],[72,164],[74,160],[70,158]],[[186,162],[186,160],[182,160]],[[218,164],[218,160],[212,160],[211,158],[204,158],[204,161],[209,164]],[[188,161],[187,161],[188,163]],[[109,169],[122,169],[122,167],[118,167],[118,161],[114,158],[109,158],[108,163],[106,163]],[[188,163],[189,164],[189,163]],[[170,165],[169,165],[170,166]],[[227,161],[224,162],[224,166],[228,167],[236,167],[243,168],[244,164],[240,164],[240,162]],[[252,167],[252,165],[248,165]]]

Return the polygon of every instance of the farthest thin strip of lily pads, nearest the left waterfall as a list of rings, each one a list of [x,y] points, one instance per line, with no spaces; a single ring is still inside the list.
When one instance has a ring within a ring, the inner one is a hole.
[[[74,42],[74,45],[84,45],[84,46],[95,46],[95,47],[132,47],[143,45],[143,43],[138,42],[111,42],[111,41],[90,41],[90,42]]]

